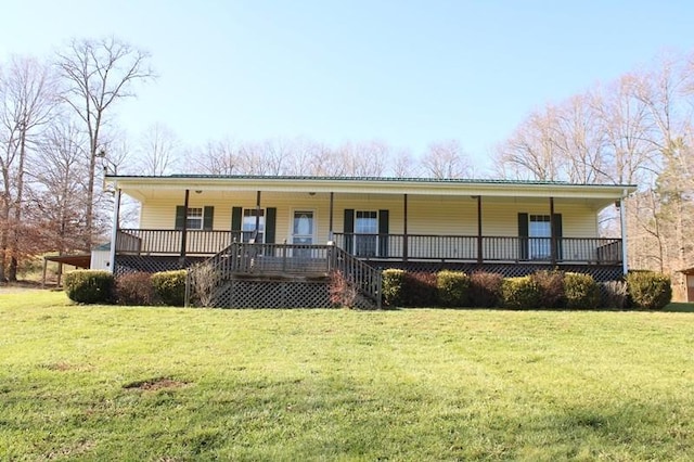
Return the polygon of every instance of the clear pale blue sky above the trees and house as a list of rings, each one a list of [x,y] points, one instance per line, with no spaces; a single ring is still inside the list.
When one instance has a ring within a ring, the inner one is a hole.
[[[534,110],[694,50],[687,0],[23,0],[0,8],[0,66],[70,38],[151,53],[155,81],[115,107],[209,140],[457,139],[477,169]]]

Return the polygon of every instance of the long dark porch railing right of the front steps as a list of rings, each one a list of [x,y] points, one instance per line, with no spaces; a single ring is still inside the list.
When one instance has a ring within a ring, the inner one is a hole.
[[[432,234],[334,233],[335,244],[365,259],[552,261],[618,265],[621,240]],[[554,252],[552,249],[554,248]]]

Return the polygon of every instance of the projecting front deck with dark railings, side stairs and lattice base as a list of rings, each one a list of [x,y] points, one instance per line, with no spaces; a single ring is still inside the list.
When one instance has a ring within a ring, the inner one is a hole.
[[[187,300],[213,307],[330,307],[336,272],[356,288],[357,306],[381,307],[381,271],[333,244],[234,242],[189,269]]]

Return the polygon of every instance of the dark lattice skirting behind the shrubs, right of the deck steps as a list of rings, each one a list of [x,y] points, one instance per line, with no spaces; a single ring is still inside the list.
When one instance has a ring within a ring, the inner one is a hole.
[[[440,270],[465,271],[473,273],[475,271],[496,272],[504,278],[516,278],[531,274],[539,270],[548,270],[556,268],[566,272],[580,272],[590,274],[597,282],[616,281],[621,279],[622,269],[620,266],[604,265],[557,265],[552,267],[542,264],[474,264],[474,262],[457,262],[457,261],[369,261],[374,268],[398,268],[407,271],[416,272],[437,272]]]

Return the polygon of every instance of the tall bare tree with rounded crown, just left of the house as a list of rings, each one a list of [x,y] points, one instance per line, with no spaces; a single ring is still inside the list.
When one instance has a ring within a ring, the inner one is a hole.
[[[74,39],[57,53],[64,81],[63,101],[81,120],[89,138],[86,230],[88,248],[93,239],[97,158],[103,147],[102,129],[118,100],[134,97],[134,86],[154,77],[150,55],[114,37]]]

